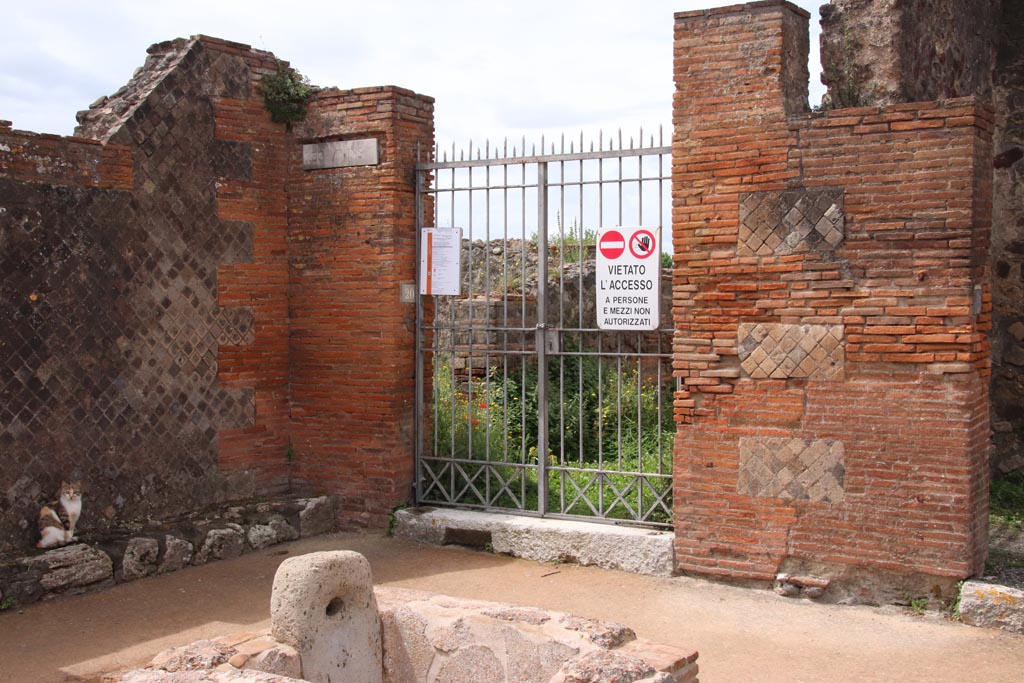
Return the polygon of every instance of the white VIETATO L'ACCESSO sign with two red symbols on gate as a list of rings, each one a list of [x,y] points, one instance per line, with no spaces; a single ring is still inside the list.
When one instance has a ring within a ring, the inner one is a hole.
[[[598,228],[598,329],[657,330],[660,287],[659,227]]]

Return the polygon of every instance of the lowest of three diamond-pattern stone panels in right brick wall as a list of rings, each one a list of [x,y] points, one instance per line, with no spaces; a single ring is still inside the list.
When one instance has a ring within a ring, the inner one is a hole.
[[[736,490],[754,498],[841,503],[843,456],[837,440],[744,436]]]

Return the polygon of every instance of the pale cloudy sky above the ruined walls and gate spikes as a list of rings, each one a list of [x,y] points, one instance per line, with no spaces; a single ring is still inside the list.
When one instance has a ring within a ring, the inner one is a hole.
[[[811,97],[823,94],[812,13]],[[321,86],[397,85],[435,98],[439,144],[587,139],[664,126],[671,141],[673,12],[735,0],[145,0],[9,2],[0,119],[72,134],[152,43],[197,34],[272,51]],[[648,134],[645,133],[645,137]],[[656,143],[656,140],[655,140]]]

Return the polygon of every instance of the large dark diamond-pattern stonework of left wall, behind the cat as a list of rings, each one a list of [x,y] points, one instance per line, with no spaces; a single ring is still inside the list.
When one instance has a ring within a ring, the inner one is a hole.
[[[248,67],[190,46],[92,131],[134,147],[135,189],[0,176],[0,553],[33,542],[61,478],[85,482],[86,532],[254,493],[217,467],[218,432],[255,414],[253,390],[218,384],[218,347],[255,328],[217,304],[253,225],[217,217],[216,182],[252,164],[215,140],[210,99],[243,96]]]

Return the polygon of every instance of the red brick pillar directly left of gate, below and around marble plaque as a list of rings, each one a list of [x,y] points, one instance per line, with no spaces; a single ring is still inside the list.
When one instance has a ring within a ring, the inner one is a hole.
[[[415,166],[433,99],[395,87],[325,90],[297,140],[374,138],[380,163],[305,171],[290,187],[290,383],[296,475],[336,493],[346,525],[383,526],[412,493]]]

